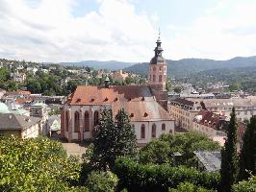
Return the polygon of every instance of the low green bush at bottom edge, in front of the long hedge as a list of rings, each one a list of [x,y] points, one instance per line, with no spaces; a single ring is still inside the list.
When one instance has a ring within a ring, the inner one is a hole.
[[[214,190],[205,189],[190,182],[181,182],[177,189],[172,188],[168,192],[214,192]]]

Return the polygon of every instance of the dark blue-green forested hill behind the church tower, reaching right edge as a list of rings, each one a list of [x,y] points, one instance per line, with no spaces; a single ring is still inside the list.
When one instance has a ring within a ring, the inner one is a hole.
[[[233,58],[231,60],[205,60],[205,59],[184,59],[184,60],[166,60],[167,75],[169,77],[188,76],[192,73],[210,69],[220,68],[238,68],[238,67],[256,67],[256,56],[248,58]],[[148,62],[134,64],[124,68],[125,71],[146,75]]]

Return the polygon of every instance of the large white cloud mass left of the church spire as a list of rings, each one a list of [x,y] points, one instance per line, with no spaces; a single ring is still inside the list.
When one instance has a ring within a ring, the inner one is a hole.
[[[0,57],[16,60],[144,61],[157,32],[130,1],[98,0],[98,12],[71,14],[74,0],[0,0]],[[8,53],[8,54],[4,54]]]

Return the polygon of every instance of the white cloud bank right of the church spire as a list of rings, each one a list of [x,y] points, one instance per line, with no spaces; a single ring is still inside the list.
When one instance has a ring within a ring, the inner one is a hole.
[[[175,38],[167,42],[167,58],[226,60],[256,55],[255,10],[255,1],[219,1],[190,26],[169,25]]]

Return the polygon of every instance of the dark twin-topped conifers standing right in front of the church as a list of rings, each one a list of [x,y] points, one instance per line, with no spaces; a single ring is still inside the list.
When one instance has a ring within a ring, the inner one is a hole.
[[[118,110],[115,122],[109,109],[105,108],[101,116],[100,125],[93,132],[90,163],[97,169],[106,171],[113,168],[117,156],[134,156],[137,143],[124,109]]]

